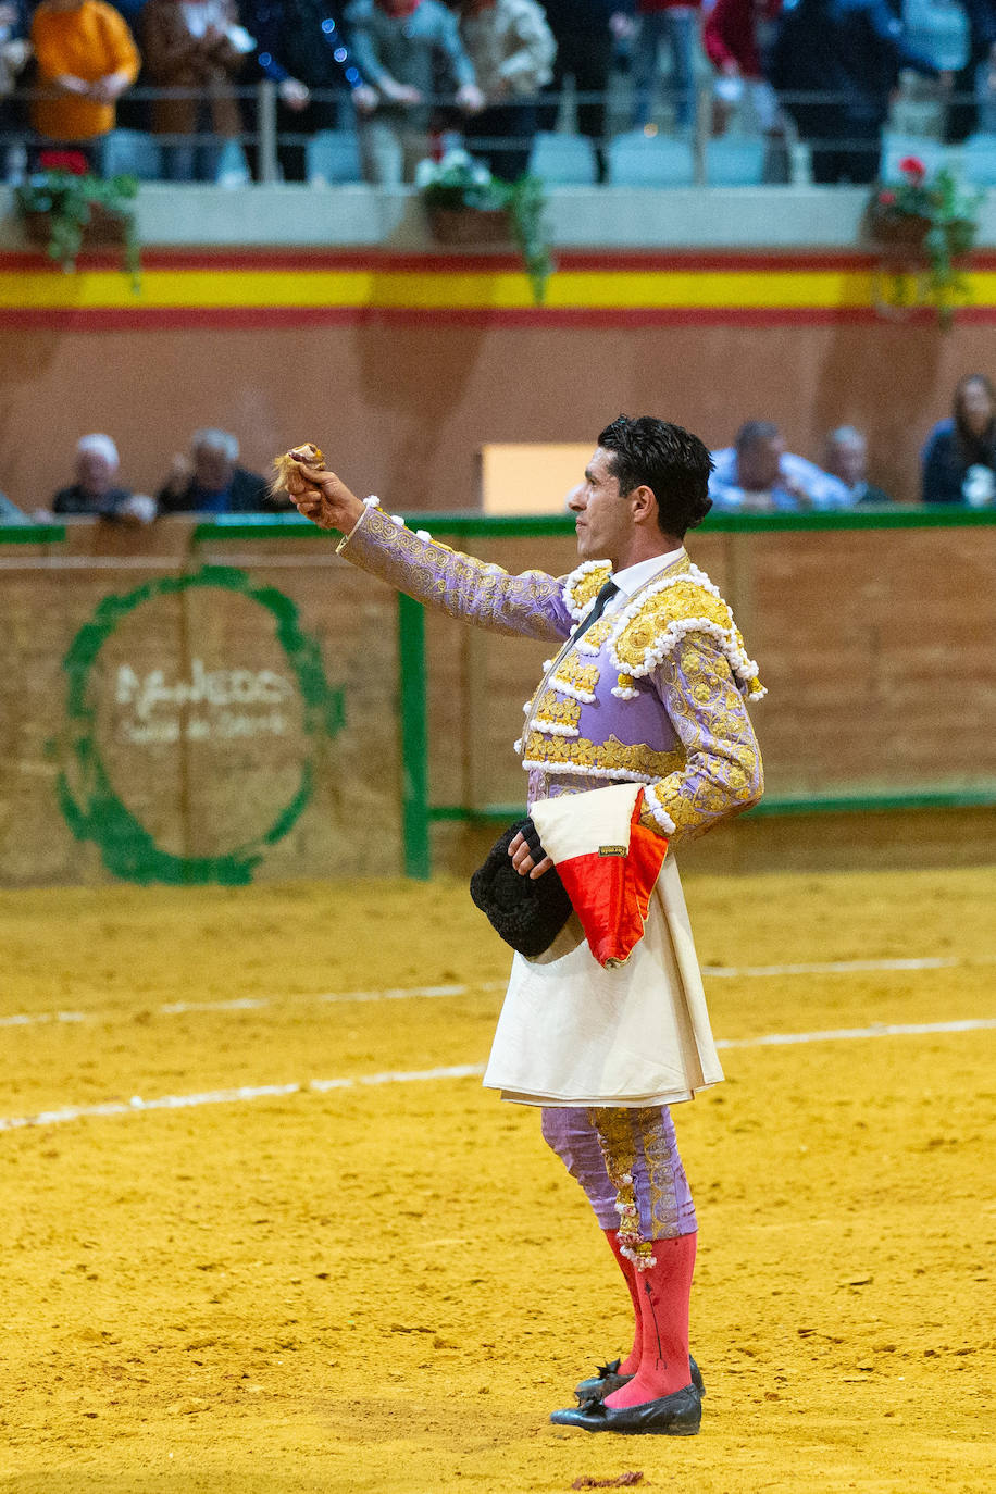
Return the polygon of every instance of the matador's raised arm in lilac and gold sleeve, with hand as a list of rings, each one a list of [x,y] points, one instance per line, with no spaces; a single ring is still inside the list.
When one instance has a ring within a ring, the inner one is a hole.
[[[563,583],[544,571],[511,575],[412,532],[376,499],[351,493],[334,472],[294,463],[282,486],[320,529],[339,529],[339,553],[390,586],[449,617],[493,632],[558,641],[573,624]]]

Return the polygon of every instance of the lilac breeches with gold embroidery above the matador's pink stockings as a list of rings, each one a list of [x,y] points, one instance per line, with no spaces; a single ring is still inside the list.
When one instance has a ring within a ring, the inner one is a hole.
[[[544,1140],[581,1183],[603,1230],[618,1228],[617,1206],[620,1197],[632,1197],[632,1179],[639,1233],[645,1240],[694,1234],[696,1212],[667,1106],[642,1110],[548,1107],[544,1109]]]

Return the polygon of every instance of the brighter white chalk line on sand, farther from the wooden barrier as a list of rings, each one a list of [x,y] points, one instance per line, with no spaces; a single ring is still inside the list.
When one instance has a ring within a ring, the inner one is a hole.
[[[871,1037],[924,1037],[932,1032],[978,1032],[996,1028],[996,1017],[965,1017],[956,1022],[875,1023],[868,1028],[836,1028],[827,1032],[768,1032],[762,1037],[720,1038],[717,1047],[779,1047],[788,1043],[833,1043]],[[227,1106],[246,1100],[272,1100],[285,1095],[318,1094],[334,1089],[360,1089],[366,1085],[414,1085],[433,1079],[473,1079],[484,1073],[484,1064],[457,1064],[451,1068],[388,1070],[382,1074],[357,1074],[346,1079],[311,1079],[308,1083],[240,1085],[237,1089],[209,1089],[193,1095],[160,1095],[145,1100],[106,1100],[96,1106],[66,1106],[42,1110],[34,1116],[0,1116],[0,1131],[21,1131],[25,1126],[61,1125],[96,1116],[142,1115],[146,1110],[191,1110],[197,1106]]]

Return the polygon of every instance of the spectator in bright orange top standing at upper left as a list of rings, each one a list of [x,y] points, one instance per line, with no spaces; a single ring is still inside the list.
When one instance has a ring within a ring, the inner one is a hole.
[[[87,160],[113,128],[115,105],[139,75],[139,51],[124,18],[105,0],[42,0],[31,18],[39,96],[31,124],[72,142]]]

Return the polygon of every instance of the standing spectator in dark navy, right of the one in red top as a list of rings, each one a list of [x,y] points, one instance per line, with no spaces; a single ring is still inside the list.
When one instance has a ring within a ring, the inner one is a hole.
[[[799,0],[784,7],[771,82],[779,94],[827,96],[815,103],[782,100],[809,142],[815,182],[875,181],[900,67],[942,82],[951,76],[906,45],[888,0]]]

